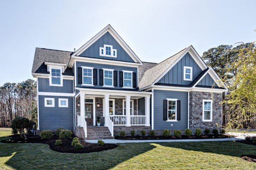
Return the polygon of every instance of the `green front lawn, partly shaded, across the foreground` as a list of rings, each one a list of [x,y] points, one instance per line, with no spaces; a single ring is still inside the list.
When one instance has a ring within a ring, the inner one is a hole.
[[[256,147],[232,141],[123,143],[113,150],[68,154],[46,144],[0,143],[0,170],[255,170],[256,163],[241,159],[242,154],[256,154]]]

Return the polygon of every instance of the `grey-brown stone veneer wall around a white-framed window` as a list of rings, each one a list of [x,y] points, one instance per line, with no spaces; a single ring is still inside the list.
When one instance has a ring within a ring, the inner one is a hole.
[[[213,119],[211,122],[203,122],[203,100],[213,100]],[[196,129],[220,129],[222,123],[222,93],[190,92],[189,93],[189,128]],[[219,126],[217,126],[218,124]],[[212,132],[212,131],[211,131]]]

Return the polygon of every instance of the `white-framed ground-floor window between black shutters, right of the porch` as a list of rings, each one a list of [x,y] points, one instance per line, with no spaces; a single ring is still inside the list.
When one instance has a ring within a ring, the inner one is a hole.
[[[177,100],[167,98],[167,121],[177,121]]]

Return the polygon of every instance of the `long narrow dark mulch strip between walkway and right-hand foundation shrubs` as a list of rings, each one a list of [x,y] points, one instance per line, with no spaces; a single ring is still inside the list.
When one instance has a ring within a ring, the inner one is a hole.
[[[115,139],[120,139],[120,140],[161,140],[161,139],[219,139],[219,138],[228,138],[228,137],[233,137],[233,136],[214,136],[213,134],[209,134],[209,135],[201,135],[200,137],[197,136],[190,136],[187,137],[185,135],[181,135],[180,138],[177,138],[175,136],[125,136],[125,137],[121,137],[121,136],[115,136]]]

